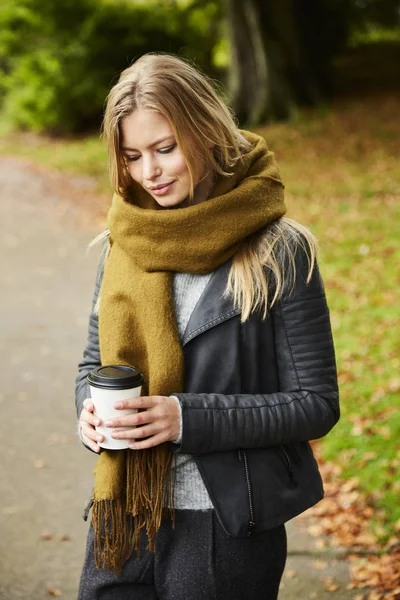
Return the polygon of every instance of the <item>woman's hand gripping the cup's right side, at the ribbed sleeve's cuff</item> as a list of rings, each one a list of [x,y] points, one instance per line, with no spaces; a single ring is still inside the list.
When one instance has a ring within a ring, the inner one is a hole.
[[[132,440],[129,448],[143,450],[158,446],[163,442],[177,439],[180,430],[180,408],[174,398],[168,396],[140,396],[119,400],[114,408],[138,409],[133,415],[109,419],[106,427],[132,427],[125,431],[113,431],[111,437],[117,440]],[[140,438],[147,438],[142,440]]]

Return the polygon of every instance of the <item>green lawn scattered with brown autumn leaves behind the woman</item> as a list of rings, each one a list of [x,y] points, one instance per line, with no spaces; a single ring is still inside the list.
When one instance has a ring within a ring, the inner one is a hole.
[[[281,165],[288,215],[320,241],[342,408],[322,452],[345,478],[359,478],[377,508],[373,527],[381,541],[400,519],[399,112],[396,97],[371,97],[258,130]],[[92,175],[99,190],[109,190],[96,137],[8,133],[0,152]]]

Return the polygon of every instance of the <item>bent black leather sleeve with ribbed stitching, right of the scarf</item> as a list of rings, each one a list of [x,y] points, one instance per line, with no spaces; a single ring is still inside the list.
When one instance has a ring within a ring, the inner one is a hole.
[[[329,311],[314,269],[306,283],[304,253],[296,278],[271,309],[279,390],[272,394],[174,394],[182,406],[178,452],[203,454],[261,448],[326,435],[339,419],[339,395]]]

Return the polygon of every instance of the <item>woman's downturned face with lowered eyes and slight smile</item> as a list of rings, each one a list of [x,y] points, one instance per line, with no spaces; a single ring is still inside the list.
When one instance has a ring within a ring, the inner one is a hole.
[[[138,108],[122,120],[121,128],[122,152],[132,179],[164,208],[187,205],[189,169],[169,121],[154,110]],[[205,166],[198,171],[199,180],[205,179],[198,186],[194,182],[193,203],[206,199],[201,193],[206,187]]]

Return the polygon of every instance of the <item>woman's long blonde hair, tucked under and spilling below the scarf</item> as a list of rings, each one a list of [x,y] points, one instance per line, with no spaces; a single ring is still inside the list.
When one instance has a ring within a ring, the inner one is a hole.
[[[218,176],[229,177],[249,145],[218,91],[215,82],[191,63],[169,54],[145,54],[125,69],[108,95],[102,128],[113,190],[125,197],[132,182],[121,152],[121,123],[139,107],[157,111],[171,124],[190,173],[189,199],[193,198],[199,161]],[[89,246],[107,236],[106,230]],[[266,318],[271,306],[286,290],[290,291],[296,276],[295,253],[300,247],[308,258],[310,279],[316,241],[295,221],[279,219],[242,242],[233,258],[226,288],[241,307],[242,321],[255,310],[261,310]],[[108,251],[109,245],[105,244],[103,260]],[[98,308],[99,301],[95,312]]]

